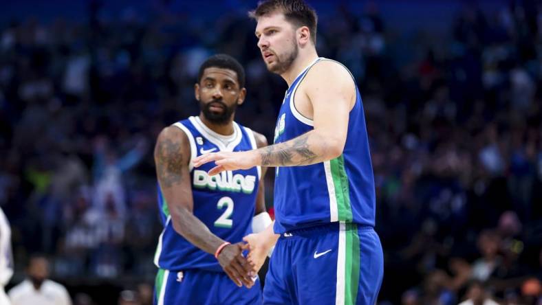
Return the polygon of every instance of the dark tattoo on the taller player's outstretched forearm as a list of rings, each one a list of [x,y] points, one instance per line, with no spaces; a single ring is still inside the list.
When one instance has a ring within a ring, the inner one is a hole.
[[[310,150],[309,135],[301,135],[292,144],[265,146],[261,152],[262,166],[300,166],[312,163],[318,155]]]

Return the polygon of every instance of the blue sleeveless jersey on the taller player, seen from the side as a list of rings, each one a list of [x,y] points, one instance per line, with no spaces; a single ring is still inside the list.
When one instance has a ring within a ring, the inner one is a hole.
[[[286,91],[275,128],[275,144],[286,142],[314,129],[313,121],[296,110],[294,97],[296,89],[303,82],[309,69],[321,60],[329,59],[314,60]],[[343,154],[336,159],[310,166],[279,167],[275,172],[277,175],[274,182],[275,233],[281,234],[285,231],[337,221],[374,226],[373,168],[365,116],[357,86],[356,104],[349,114]]]

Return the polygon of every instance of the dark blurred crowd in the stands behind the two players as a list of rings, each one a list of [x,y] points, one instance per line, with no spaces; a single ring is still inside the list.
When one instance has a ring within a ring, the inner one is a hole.
[[[129,289],[119,300],[142,304],[138,285],[153,282],[161,230],[152,148],[164,126],[198,112],[199,64],[217,52],[243,63],[248,97],[237,121],[268,139],[286,84],[265,69],[246,10],[205,19],[158,5],[107,18],[89,3],[87,22],[0,27],[0,207],[12,225],[12,282],[40,252],[72,295],[75,285],[111,283]],[[445,35],[401,32],[374,3],[319,12],[318,52],[349,67],[365,107],[380,304],[542,304],[534,3],[466,4]]]

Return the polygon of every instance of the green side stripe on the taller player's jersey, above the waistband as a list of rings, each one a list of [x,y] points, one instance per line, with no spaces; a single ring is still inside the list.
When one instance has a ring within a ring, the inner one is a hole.
[[[345,170],[345,157],[340,155],[336,159],[329,161],[329,164],[335,188],[338,221],[345,221],[348,223],[352,221],[352,208],[350,205],[348,177]]]

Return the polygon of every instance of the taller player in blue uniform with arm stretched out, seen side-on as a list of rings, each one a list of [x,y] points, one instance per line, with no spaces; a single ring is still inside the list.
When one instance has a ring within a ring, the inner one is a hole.
[[[195,166],[215,161],[209,174],[277,167],[274,225],[245,238],[256,267],[277,242],[264,304],[373,305],[383,258],[356,82],[343,65],[316,54],[316,13],[303,0],[263,1],[251,14],[265,65],[289,85],[274,145],[204,155]]]

